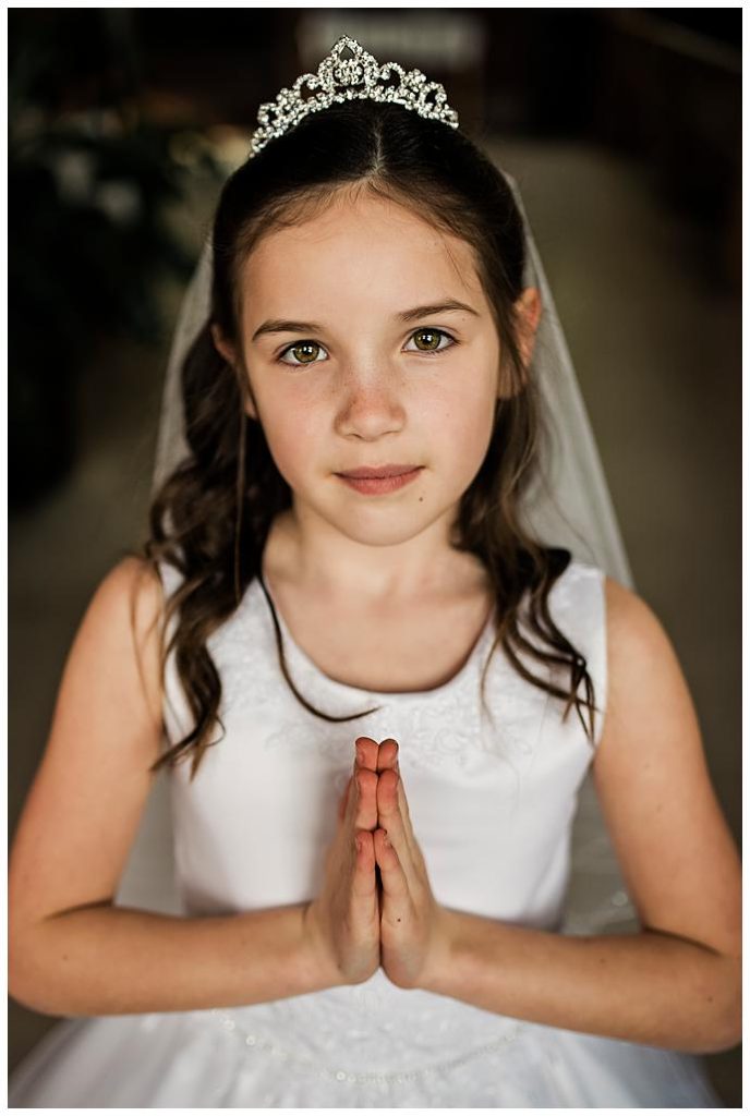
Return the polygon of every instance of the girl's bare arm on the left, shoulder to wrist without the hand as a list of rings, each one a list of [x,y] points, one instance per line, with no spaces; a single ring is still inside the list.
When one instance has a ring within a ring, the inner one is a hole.
[[[158,579],[133,559],[99,586],[16,833],[9,991],[42,1013],[230,1007],[347,978],[310,933],[307,904],[198,918],[113,905],[155,778],[162,608]],[[353,844],[355,815],[345,821]]]

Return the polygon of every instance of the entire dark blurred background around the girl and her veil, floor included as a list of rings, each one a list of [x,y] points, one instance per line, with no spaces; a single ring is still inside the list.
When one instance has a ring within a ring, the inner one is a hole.
[[[741,840],[741,10],[10,9],[9,824],[98,581],[145,537],[171,330],[258,107],[342,33],[517,179],[636,590]],[[10,1001],[9,1066],[55,1023]],[[706,1059],[741,1105],[741,1048]]]

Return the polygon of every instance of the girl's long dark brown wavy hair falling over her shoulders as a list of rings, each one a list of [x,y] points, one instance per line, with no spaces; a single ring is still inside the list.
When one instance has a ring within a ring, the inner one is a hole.
[[[217,352],[210,333],[218,326],[227,341],[242,350],[240,273],[248,256],[265,234],[311,219],[342,191],[367,192],[406,206],[435,229],[462,238],[473,251],[501,343],[501,373],[508,377],[507,397],[496,404],[485,458],[460,500],[451,533],[451,546],[482,561],[497,600],[482,703],[490,657],[502,645],[523,679],[565,702],[562,720],[575,704],[594,741],[597,706],[586,660],[556,627],[548,605],[570,551],[541,546],[519,521],[521,496],[540,470],[544,419],[538,385],[523,366],[518,341],[515,304],[523,289],[525,238],[512,191],[460,129],[400,105],[355,100],[309,114],[272,140],[231,175],[219,199],[210,318],[182,367],[190,452],[155,494],[151,536],[141,551],[156,571],[158,562],[169,562],[181,574],[179,588],[166,602],[164,619],[175,617],[175,629],[163,641],[162,670],[174,652],[194,725],[163,752],[152,771],[191,757],[192,779],[206,748],[222,739],[210,739],[217,725],[222,734],[224,727],[221,680],[206,641],[231,616],[253,578],[268,600],[281,671],[300,704],[330,722],[375,712],[331,716],[310,704],[290,677],[261,556],[273,519],[291,506],[291,491],[262,426],[244,412],[246,393],[252,397],[248,377]],[[519,620],[527,593],[525,634]],[[546,665],[548,676],[529,671],[521,651]],[[552,682],[558,668],[567,672],[565,689]],[[581,709],[588,711],[588,725]]]

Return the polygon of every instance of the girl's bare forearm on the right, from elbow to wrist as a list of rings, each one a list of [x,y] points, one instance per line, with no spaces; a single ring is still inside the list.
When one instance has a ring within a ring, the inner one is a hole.
[[[658,931],[565,936],[445,911],[450,954],[424,987],[568,1030],[714,1054],[740,1041],[733,959]]]

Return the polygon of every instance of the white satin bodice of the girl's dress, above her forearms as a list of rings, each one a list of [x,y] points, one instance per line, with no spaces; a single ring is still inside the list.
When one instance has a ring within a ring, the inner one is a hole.
[[[167,593],[179,574],[162,567]],[[604,575],[573,561],[550,593],[550,614],[585,656],[596,704],[606,701]],[[327,677],[295,644],[277,608],[297,689],[331,723],[306,710],[278,662],[272,617],[258,580],[209,641],[222,681],[225,734],[195,778],[171,778],[177,888],[189,914],[229,913],[312,898],[336,807],[352,771],[354,741],[393,737],[412,824],[436,899],[462,911],[555,930],[569,868],[570,822],[593,747],[573,709],[527,682],[501,646],[482,666],[491,616],[468,661],[446,684],[421,693],[376,693]],[[521,656],[523,657],[523,656]],[[541,664],[525,660],[532,673]],[[167,662],[171,741],[191,727],[174,663]],[[595,719],[595,742],[602,728]]]

